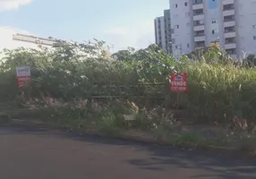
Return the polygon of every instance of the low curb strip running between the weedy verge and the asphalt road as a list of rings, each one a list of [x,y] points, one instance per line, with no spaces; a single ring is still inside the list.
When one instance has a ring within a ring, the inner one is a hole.
[[[50,124],[36,124],[36,123],[31,123],[26,120],[18,120],[18,119],[13,119],[10,120],[7,123],[0,123],[0,126],[5,126],[5,127],[21,127],[29,130],[58,130],[60,132],[73,132],[70,131],[68,128],[55,128],[51,126]],[[75,131],[74,131],[75,132]],[[157,140],[157,139],[146,139],[141,136],[134,136],[134,135],[129,135],[129,134],[118,134],[118,135],[107,135],[107,134],[102,134],[96,131],[92,130],[87,130],[83,132],[78,132],[80,135],[94,135],[98,137],[107,137],[107,138],[113,138],[117,140],[125,140],[125,141],[135,141],[135,142],[140,142],[144,144],[151,144],[151,145],[161,145],[161,146],[169,146],[169,147],[174,147],[174,148],[179,148],[179,149],[194,149],[198,151],[206,151],[206,152],[212,152],[212,153],[221,153],[221,154],[226,154],[226,155],[231,155],[234,157],[242,157],[242,158],[256,158],[255,154],[248,154],[246,152],[243,152],[239,149],[235,148],[225,148],[225,147],[218,147],[218,146],[213,146],[213,145],[207,145],[207,146],[194,146],[192,144],[184,144],[182,146],[177,146],[171,141],[163,141],[163,140]]]

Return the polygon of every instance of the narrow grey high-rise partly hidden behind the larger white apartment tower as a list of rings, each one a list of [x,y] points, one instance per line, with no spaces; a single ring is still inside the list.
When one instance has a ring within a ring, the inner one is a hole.
[[[162,47],[167,53],[172,52],[171,13],[164,11],[164,16],[155,19],[156,44]]]

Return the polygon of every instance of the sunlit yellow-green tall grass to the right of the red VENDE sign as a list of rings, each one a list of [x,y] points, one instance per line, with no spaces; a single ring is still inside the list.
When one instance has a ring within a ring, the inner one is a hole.
[[[187,107],[194,115],[210,120],[234,116],[254,120],[255,69],[194,63],[186,70],[190,88]]]

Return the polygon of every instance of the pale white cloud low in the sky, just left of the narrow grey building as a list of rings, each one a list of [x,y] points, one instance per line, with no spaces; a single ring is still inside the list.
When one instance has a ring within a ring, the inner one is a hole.
[[[112,27],[103,31],[107,44],[116,50],[127,47],[144,48],[154,43],[154,21],[130,24],[129,27]]]

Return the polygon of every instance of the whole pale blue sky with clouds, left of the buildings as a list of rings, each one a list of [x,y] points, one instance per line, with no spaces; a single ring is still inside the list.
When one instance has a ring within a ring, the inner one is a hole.
[[[154,18],[168,0],[0,0],[0,26],[39,37],[82,42],[96,38],[115,50],[155,42]]]

